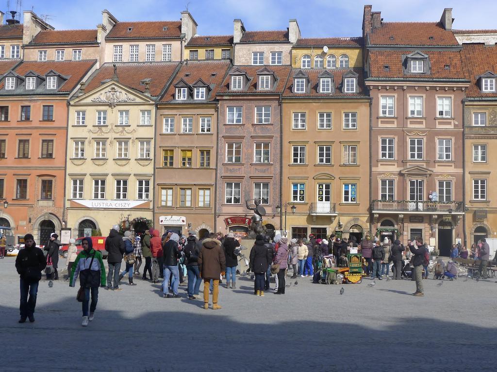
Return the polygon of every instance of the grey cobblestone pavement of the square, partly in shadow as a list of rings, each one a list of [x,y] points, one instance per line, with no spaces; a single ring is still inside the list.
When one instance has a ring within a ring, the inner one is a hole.
[[[62,260],[64,262],[64,260]],[[123,265],[124,266],[124,265]],[[298,284],[296,285],[296,282]],[[496,371],[497,283],[425,280],[342,286],[287,280],[286,295],[253,296],[253,282],[222,288],[222,310],[164,299],[141,279],[100,289],[81,326],[76,288],[40,282],[36,322],[18,324],[14,258],[0,261],[4,372],[62,371]],[[272,286],[274,286],[272,284]]]

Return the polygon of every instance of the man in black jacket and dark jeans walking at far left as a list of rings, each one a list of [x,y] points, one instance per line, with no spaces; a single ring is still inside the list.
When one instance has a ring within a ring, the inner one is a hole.
[[[15,258],[15,269],[20,276],[21,300],[19,312],[21,317],[19,323],[24,323],[26,318],[34,321],[34,308],[36,306],[36,295],[38,283],[41,279],[41,271],[47,265],[43,251],[36,248],[36,243],[31,234],[24,236],[24,249],[21,249]],[[29,294],[29,300],[28,300]]]

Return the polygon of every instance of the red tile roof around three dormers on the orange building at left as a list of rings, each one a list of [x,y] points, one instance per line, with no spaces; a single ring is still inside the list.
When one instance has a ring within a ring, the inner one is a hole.
[[[84,75],[96,63],[91,61],[64,61],[64,62],[23,62],[14,71],[24,76],[28,71],[34,71],[37,74],[45,75],[48,71],[54,70],[66,77],[66,82],[59,88],[58,92],[70,92],[83,79]]]

